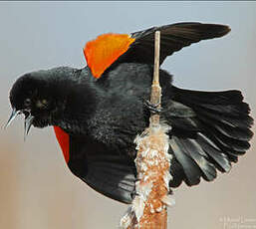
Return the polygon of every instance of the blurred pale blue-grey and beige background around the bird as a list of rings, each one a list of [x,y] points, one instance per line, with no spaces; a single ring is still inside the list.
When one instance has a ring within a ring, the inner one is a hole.
[[[83,47],[101,33],[181,21],[221,23],[232,31],[168,58],[162,68],[174,75],[174,84],[239,89],[255,117],[256,2],[0,2],[1,124],[10,113],[9,90],[22,74],[85,66]],[[255,138],[252,144],[229,174],[174,191],[169,228],[224,229],[223,217],[253,218],[256,226]],[[24,143],[17,118],[0,131],[0,148],[1,228],[117,228],[127,206],[71,174],[51,128],[33,128]]]

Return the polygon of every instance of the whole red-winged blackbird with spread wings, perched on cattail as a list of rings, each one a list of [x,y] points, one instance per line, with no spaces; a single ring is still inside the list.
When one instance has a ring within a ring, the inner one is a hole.
[[[95,190],[130,203],[135,182],[133,139],[148,125],[154,32],[161,32],[160,64],[200,40],[222,37],[224,25],[177,23],[130,35],[106,34],[85,49],[88,67],[26,74],[10,92],[13,113],[31,125],[53,125],[71,171]],[[161,121],[171,126],[170,187],[211,181],[244,154],[253,118],[239,91],[197,92],[171,84],[160,70]]]

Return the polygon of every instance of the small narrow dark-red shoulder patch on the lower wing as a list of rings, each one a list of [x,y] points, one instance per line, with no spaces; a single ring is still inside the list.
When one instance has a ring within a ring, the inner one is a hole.
[[[66,163],[70,160],[70,136],[61,127],[54,125],[55,135],[62,148]]]

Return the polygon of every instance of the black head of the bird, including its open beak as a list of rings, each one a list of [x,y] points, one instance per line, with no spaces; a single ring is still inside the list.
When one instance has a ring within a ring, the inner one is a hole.
[[[31,125],[45,127],[55,124],[65,113],[67,100],[72,94],[74,73],[71,68],[56,68],[20,77],[10,91],[13,112],[6,125],[18,114],[25,116],[25,135]]]

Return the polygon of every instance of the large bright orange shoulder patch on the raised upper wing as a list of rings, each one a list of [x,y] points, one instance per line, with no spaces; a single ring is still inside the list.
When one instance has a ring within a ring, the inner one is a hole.
[[[128,34],[104,34],[88,42],[84,54],[93,76],[100,78],[134,41]]]

